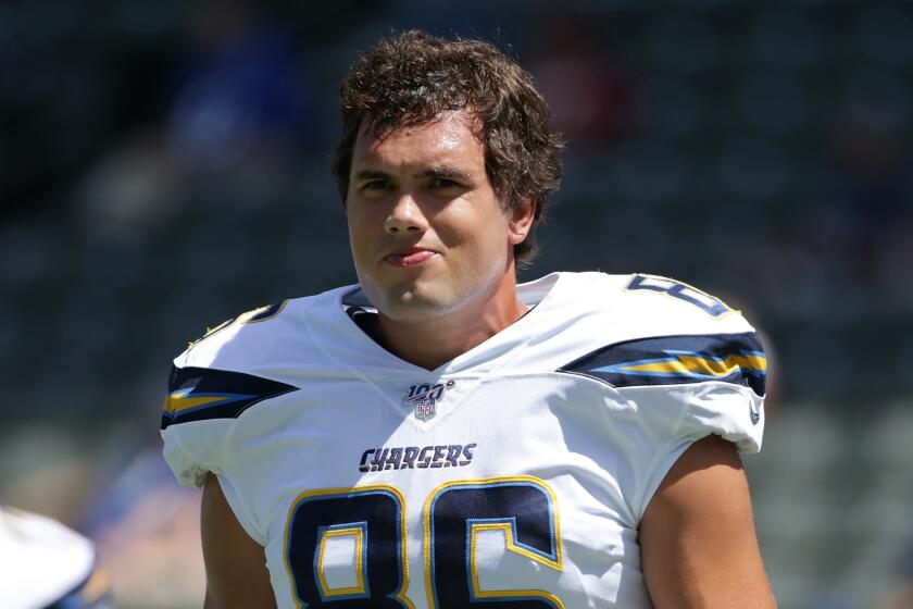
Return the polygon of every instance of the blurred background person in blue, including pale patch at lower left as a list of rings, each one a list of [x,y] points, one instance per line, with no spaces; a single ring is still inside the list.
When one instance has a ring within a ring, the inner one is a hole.
[[[184,28],[166,84],[149,96],[163,98],[161,108],[84,179],[83,213],[97,238],[152,241],[182,207],[227,199],[196,194],[275,189],[300,153],[324,142],[308,66],[267,10],[204,0]]]

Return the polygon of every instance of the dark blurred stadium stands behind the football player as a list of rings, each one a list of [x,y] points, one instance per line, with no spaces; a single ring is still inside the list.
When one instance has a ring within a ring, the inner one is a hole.
[[[337,83],[423,27],[510,48],[570,141],[525,277],[670,275],[767,334],[746,462],[780,607],[913,607],[913,2],[254,5],[0,4],[0,502],[92,536],[118,606],[199,607],[170,359],[354,281]]]

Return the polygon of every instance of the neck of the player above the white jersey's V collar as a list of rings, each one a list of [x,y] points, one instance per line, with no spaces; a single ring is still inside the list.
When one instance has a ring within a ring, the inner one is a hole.
[[[513,273],[499,282],[493,294],[480,300],[479,306],[464,307],[418,322],[380,314],[384,346],[410,363],[435,370],[481,345],[528,311],[528,307],[517,298]]]

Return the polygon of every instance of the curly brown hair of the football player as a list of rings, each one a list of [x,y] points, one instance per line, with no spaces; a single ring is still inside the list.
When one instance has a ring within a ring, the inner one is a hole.
[[[382,135],[463,109],[480,124],[485,169],[498,198],[508,208],[528,200],[536,206],[529,236],[514,246],[517,263],[528,263],[538,251],[535,231],[561,183],[563,142],[549,127],[551,112],[533,77],[487,42],[413,29],[359,57],[340,87],[342,137],[333,175],[342,203],[363,124]]]

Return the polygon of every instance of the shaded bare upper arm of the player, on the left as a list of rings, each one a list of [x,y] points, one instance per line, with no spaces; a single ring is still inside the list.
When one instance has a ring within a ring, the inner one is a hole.
[[[263,548],[238,523],[212,474],[203,487],[201,517],[207,609],[276,607]]]

